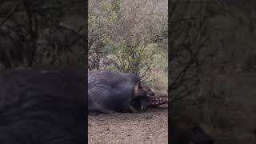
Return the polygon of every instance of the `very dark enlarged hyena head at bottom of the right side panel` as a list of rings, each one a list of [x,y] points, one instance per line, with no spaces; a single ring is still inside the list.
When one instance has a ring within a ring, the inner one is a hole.
[[[188,116],[171,118],[171,141],[178,144],[213,144],[214,139]]]

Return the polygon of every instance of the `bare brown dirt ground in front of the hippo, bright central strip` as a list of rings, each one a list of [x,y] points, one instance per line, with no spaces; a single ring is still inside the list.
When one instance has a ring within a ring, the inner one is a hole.
[[[140,114],[88,116],[89,144],[168,143],[168,109],[162,106]]]

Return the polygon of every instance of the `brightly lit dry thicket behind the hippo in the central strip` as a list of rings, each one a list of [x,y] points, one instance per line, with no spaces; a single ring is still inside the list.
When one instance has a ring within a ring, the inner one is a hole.
[[[89,70],[138,74],[167,90],[167,1],[90,1]]]

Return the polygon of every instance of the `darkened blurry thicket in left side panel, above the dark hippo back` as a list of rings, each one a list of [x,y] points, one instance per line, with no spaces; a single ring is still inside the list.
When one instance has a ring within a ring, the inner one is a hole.
[[[0,70],[86,65],[82,0],[0,2]]]

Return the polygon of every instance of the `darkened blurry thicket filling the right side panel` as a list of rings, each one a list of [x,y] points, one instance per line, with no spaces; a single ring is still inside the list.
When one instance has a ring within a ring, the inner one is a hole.
[[[256,3],[169,2],[171,114],[217,143],[255,143]]]

